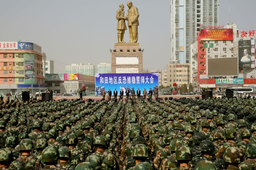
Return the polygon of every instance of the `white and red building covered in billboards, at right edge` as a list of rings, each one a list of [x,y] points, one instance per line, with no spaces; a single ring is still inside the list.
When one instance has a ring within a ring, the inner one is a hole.
[[[255,31],[241,33],[235,24],[200,30],[197,41],[191,45],[190,76],[194,91],[256,87]]]

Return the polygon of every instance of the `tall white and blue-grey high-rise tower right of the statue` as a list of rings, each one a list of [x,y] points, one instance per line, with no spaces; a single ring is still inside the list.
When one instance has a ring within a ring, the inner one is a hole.
[[[190,62],[202,27],[218,26],[219,0],[171,0],[171,61]]]

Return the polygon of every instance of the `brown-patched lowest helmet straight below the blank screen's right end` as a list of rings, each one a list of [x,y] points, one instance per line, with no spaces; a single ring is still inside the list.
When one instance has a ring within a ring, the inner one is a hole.
[[[240,163],[240,149],[237,147],[228,147],[223,153],[223,159],[229,163]]]

